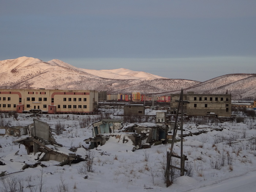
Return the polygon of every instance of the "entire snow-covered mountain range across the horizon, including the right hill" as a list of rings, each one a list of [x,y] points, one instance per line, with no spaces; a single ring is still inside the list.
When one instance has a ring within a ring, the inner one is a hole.
[[[74,67],[53,59],[32,57],[0,61],[0,89],[85,89],[108,93],[228,93],[232,98],[256,99],[256,74],[229,74],[205,82],[168,79],[129,69],[93,70]],[[177,91],[177,92],[175,92]]]

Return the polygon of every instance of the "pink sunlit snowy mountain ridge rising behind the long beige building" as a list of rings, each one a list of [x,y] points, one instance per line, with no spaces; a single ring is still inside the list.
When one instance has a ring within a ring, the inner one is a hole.
[[[57,59],[44,62],[31,57],[0,61],[0,68],[1,89],[90,89],[109,93],[157,93],[199,83],[167,79],[123,68],[81,69]]]

